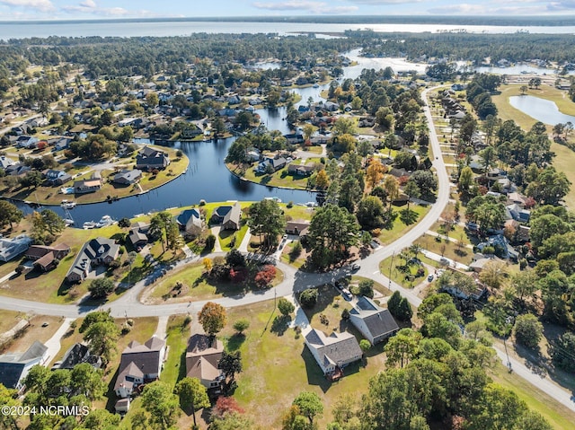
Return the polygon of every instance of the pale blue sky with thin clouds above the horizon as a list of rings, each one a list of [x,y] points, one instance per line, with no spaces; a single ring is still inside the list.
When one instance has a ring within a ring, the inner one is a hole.
[[[266,15],[565,15],[575,0],[0,0],[0,21]]]

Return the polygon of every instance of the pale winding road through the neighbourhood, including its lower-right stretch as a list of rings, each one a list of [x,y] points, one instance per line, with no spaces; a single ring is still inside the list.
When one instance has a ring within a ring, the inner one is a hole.
[[[413,241],[418,239],[423,233],[426,233],[431,225],[433,225],[440,215],[443,213],[447,202],[449,200],[450,194],[450,183],[449,177],[447,175],[446,165],[443,158],[440,156],[441,148],[439,146],[438,136],[433,126],[433,118],[431,117],[431,111],[429,109],[429,102],[427,94],[429,91],[433,91],[438,87],[425,89],[421,96],[425,101],[423,111],[428,120],[429,124],[429,140],[431,143],[431,148],[433,154],[436,156],[433,160],[433,167],[435,168],[438,175],[438,198],[436,203],[431,206],[429,213],[421,219],[421,221],[416,224],[408,233],[404,234],[401,238],[390,243],[389,245],[376,250],[373,254],[368,256],[366,259],[361,261],[361,268],[358,270],[356,275],[365,276],[372,278],[383,285],[388,285],[393,291],[400,291],[404,297],[406,297],[409,302],[414,306],[419,306],[421,299],[413,294],[411,290],[403,288],[401,285],[397,285],[390,281],[387,277],[379,272],[379,263],[388,257],[391,257],[394,253],[398,253],[404,248],[411,245]],[[190,262],[190,260],[181,261],[179,265],[183,265]],[[314,285],[321,285],[328,282],[332,282],[335,279],[345,276],[350,273],[349,268],[341,268],[333,270],[330,273],[325,274],[314,274],[305,273],[301,271],[296,271],[286,264],[278,262],[278,267],[284,273],[284,281],[273,289],[267,290],[265,292],[248,293],[243,295],[237,295],[234,297],[224,297],[217,300],[212,300],[212,302],[220,303],[225,307],[233,306],[243,306],[246,304],[257,303],[263,300],[273,299],[276,295],[282,297],[285,295],[291,295],[295,292],[302,291],[305,288],[312,287]],[[92,312],[96,309],[106,309],[111,311],[111,315],[114,317],[144,317],[144,316],[165,316],[175,313],[186,313],[186,312],[199,312],[201,307],[208,301],[202,302],[192,302],[192,303],[171,303],[171,304],[158,304],[158,305],[146,305],[138,301],[138,295],[146,288],[145,282],[139,282],[123,294],[118,300],[112,303],[103,304],[100,307],[94,306],[83,306],[76,304],[49,304],[49,303],[38,303],[31,302],[22,299],[15,299],[10,297],[1,297],[0,309],[6,309],[11,311],[19,312],[33,312],[43,315],[56,315],[64,316],[66,318],[75,318],[82,316],[86,312]],[[505,352],[497,346],[494,346],[498,355],[502,359],[504,364],[508,363],[508,358]],[[562,405],[575,411],[575,403],[573,402],[571,393],[563,390],[561,387],[550,382],[548,379],[544,379],[535,373],[532,373],[525,364],[517,361],[514,358],[509,358],[515,373],[517,376],[526,379],[527,382],[532,383],[544,391],[553,399],[562,403]]]

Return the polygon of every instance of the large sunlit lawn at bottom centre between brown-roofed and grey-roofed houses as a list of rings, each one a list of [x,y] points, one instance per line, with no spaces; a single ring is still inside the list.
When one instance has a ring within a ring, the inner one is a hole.
[[[261,428],[279,428],[281,417],[301,391],[314,391],[322,399],[323,417],[317,421],[324,428],[332,421],[333,402],[344,393],[360,399],[369,379],[384,368],[380,344],[367,352],[367,364],[351,364],[340,381],[328,382],[301,334],[294,329],[284,331],[278,323],[272,331],[273,321],[281,316],[274,312],[273,301],[232,308],[227,315],[230,324],[221,336],[226,347],[241,351],[243,363],[234,397]],[[239,339],[232,325],[241,318],[250,321],[250,328]]]

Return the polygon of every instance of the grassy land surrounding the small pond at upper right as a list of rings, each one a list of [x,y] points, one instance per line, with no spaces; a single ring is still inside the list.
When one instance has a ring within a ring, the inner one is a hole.
[[[517,110],[509,104],[509,97],[520,95],[519,90],[521,85],[503,85],[500,87],[500,94],[493,97],[493,101],[497,105],[498,115],[502,120],[513,119],[517,125],[524,130],[529,130],[536,122],[535,118],[531,118],[521,110]],[[538,90],[528,90],[528,95],[533,95],[545,100],[554,101],[559,110],[567,115],[575,115],[575,103],[569,100],[566,92],[562,92],[549,85],[542,85]],[[547,126],[547,131],[551,133],[553,125]],[[574,137],[571,136],[571,140]],[[552,151],[556,154],[553,159],[553,166],[559,171],[563,171],[567,178],[571,180],[571,184],[575,184],[575,170],[573,170],[573,162],[575,162],[575,153],[566,146],[552,144]],[[575,186],[571,186],[570,193],[565,197],[565,202],[569,207],[575,207]]]

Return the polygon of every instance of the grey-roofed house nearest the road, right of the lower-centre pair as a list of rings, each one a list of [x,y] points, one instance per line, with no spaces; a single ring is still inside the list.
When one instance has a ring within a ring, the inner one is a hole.
[[[349,320],[371,345],[383,342],[399,331],[391,312],[368,297],[360,296],[349,312]]]

